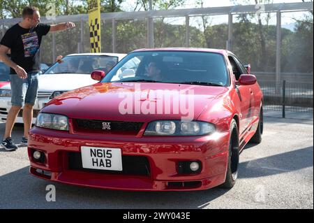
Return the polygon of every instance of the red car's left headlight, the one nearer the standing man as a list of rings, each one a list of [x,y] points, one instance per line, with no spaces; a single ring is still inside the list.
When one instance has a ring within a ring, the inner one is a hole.
[[[68,131],[68,117],[49,113],[39,113],[36,127]]]

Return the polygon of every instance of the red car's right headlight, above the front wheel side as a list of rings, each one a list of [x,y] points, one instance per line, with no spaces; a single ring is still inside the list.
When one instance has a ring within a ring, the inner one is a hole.
[[[144,136],[202,136],[216,131],[209,122],[155,121],[150,122]]]

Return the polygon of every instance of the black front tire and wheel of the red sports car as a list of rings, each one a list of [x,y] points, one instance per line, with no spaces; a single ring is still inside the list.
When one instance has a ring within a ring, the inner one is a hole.
[[[239,166],[239,135],[237,122],[235,120],[232,120],[230,125],[230,144],[227,163],[227,173],[225,175],[225,182],[221,185],[221,187],[230,189],[234,186],[238,177],[238,166]]]

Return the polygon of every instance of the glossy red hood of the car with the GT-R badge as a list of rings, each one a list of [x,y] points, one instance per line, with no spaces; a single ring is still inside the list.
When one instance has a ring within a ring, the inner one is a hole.
[[[227,87],[167,83],[97,83],[58,96],[43,108],[89,120],[197,120]]]

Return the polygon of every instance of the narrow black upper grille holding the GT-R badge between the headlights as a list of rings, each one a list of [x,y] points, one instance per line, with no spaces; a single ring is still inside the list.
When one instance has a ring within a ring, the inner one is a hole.
[[[110,129],[103,129],[105,122],[110,123]],[[136,135],[143,122],[120,122],[120,121],[103,121],[103,120],[73,120],[74,131],[84,133],[100,133],[100,134],[123,134]]]

